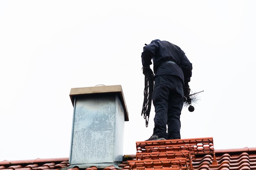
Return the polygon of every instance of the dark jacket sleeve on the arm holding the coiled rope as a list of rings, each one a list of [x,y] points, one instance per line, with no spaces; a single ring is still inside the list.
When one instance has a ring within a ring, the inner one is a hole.
[[[152,57],[157,53],[158,49],[159,47],[154,41],[144,46],[143,52],[141,53],[142,66],[146,67],[152,64]]]

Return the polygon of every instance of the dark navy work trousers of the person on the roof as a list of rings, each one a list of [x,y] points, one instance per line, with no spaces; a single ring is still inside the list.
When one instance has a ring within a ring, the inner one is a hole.
[[[175,75],[157,75],[152,99],[155,106],[153,133],[165,139],[180,139],[180,114],[184,102],[182,79]]]

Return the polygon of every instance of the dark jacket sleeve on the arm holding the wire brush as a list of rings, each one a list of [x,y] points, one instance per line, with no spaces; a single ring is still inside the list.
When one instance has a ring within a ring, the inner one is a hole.
[[[182,68],[182,71],[184,73],[184,86],[189,86],[190,77],[192,76],[192,63],[189,61],[183,51],[180,68]]]

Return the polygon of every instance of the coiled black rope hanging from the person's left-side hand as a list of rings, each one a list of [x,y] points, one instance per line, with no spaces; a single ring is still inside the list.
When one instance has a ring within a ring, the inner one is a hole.
[[[153,71],[149,68],[145,72],[145,88],[144,88],[144,102],[142,106],[141,116],[144,115],[146,119],[146,127],[148,127],[148,118],[151,110],[152,95],[154,90]]]

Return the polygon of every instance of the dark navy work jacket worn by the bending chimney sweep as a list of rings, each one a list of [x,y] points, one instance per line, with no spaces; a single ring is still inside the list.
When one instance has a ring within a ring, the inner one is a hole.
[[[152,64],[151,59],[154,63],[155,76],[177,75],[183,80],[185,86],[190,82],[192,64],[180,47],[167,41],[153,40],[143,48],[142,66],[146,67]],[[176,64],[163,64],[165,61],[173,61]]]

